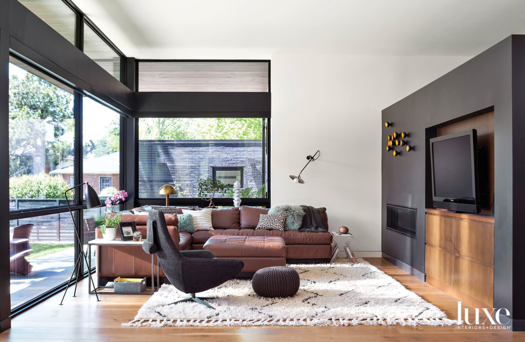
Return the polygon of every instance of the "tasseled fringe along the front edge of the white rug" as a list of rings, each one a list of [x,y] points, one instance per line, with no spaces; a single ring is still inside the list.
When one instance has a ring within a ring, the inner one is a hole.
[[[215,327],[215,326],[260,326],[260,325],[282,325],[282,326],[299,326],[299,325],[320,325],[328,326],[333,325],[335,327],[344,325],[344,326],[356,326],[356,325],[432,325],[432,326],[444,326],[444,325],[461,325],[463,321],[453,320],[448,318],[419,318],[419,319],[392,319],[392,318],[366,318],[366,319],[349,319],[349,318],[287,318],[286,320],[281,319],[177,319],[174,322],[174,319],[155,319],[155,318],[144,318],[144,319],[134,319],[129,323],[122,323],[124,327],[187,327],[187,326],[203,326],[203,327]]]

